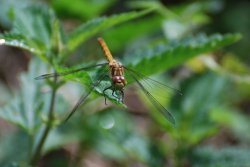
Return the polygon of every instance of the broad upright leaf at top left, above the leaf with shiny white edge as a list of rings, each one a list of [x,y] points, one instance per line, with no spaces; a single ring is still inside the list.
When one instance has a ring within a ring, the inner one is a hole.
[[[54,21],[55,15],[52,10],[41,5],[30,6],[16,16],[11,32],[25,35],[30,44],[44,50],[50,46]]]

